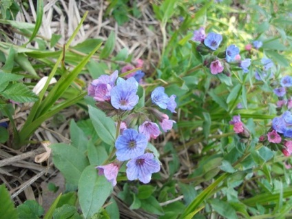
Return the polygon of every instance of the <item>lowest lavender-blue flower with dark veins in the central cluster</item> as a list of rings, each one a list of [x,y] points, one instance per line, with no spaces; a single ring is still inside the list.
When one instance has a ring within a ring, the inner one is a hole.
[[[142,183],[149,183],[153,173],[160,171],[160,164],[152,153],[146,153],[127,163],[127,178],[129,180],[140,180]]]

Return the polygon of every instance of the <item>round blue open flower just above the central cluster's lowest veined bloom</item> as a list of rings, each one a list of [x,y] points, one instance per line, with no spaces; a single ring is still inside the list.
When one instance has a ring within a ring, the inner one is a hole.
[[[121,136],[116,138],[116,158],[120,161],[136,158],[144,154],[148,140],[144,134],[135,129],[125,129]]]

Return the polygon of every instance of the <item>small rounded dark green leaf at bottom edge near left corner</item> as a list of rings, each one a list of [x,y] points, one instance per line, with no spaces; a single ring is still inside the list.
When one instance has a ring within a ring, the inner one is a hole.
[[[27,200],[17,207],[19,219],[38,219],[43,215],[43,207],[35,200]]]

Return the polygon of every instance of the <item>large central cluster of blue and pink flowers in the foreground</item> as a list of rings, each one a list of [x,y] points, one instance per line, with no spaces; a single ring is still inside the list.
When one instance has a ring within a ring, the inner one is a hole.
[[[128,70],[125,68],[123,71]],[[160,135],[160,128],[167,132],[176,123],[159,110],[176,112],[176,95],[168,96],[164,87],[156,87],[149,101],[146,101],[148,105],[135,110],[139,101],[136,74],[128,74],[127,79],[122,79],[115,71],[110,76],[100,76],[88,87],[88,95],[97,101],[96,106],[118,121],[119,136],[114,148],[116,158],[112,163],[96,167],[98,174],[104,175],[113,186],[117,183],[116,177],[124,162],[127,162],[129,180],[149,183],[152,174],[160,170],[160,162],[147,148],[148,141]]]

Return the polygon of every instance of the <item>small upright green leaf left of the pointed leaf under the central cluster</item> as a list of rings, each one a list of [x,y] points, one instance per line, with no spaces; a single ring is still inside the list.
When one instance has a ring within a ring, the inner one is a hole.
[[[73,119],[70,123],[70,136],[72,145],[84,154],[87,149],[88,139]]]

